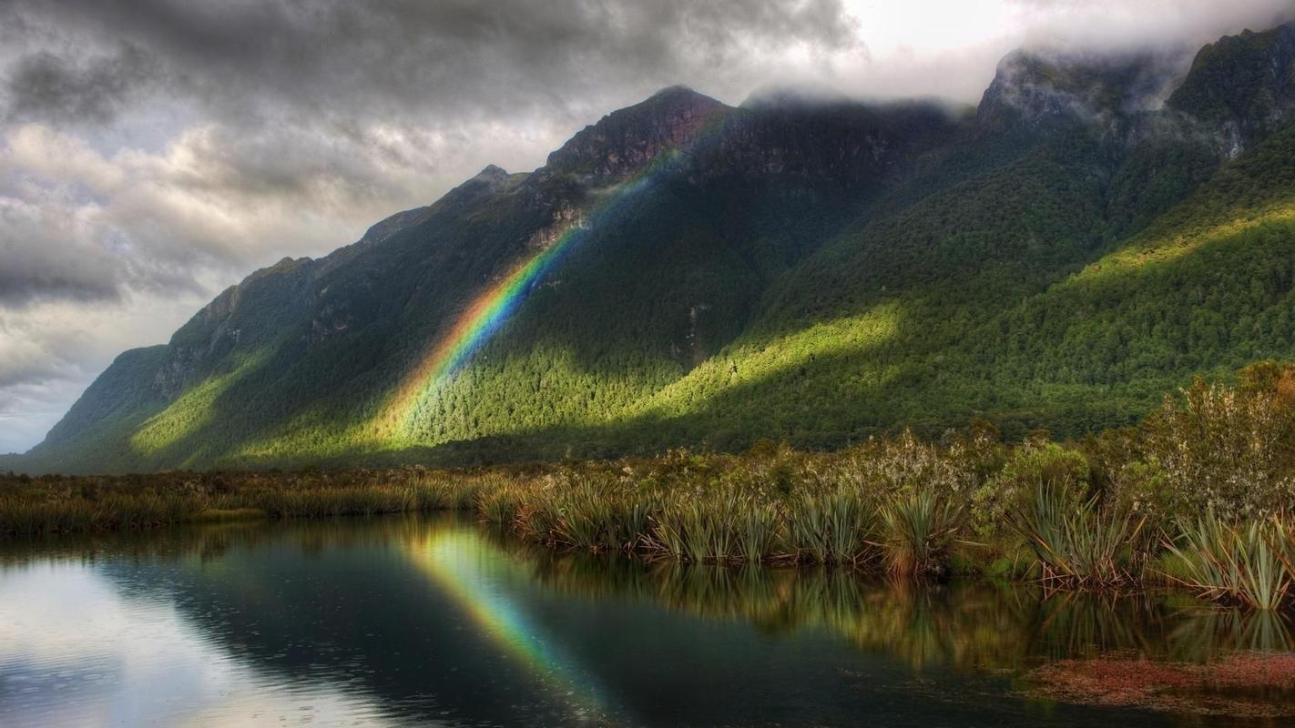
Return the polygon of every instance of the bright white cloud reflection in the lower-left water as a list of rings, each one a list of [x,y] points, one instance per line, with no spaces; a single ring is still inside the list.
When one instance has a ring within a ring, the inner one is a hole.
[[[73,560],[0,574],[0,724],[249,725],[376,718],[368,697],[300,694],[237,659],[148,584]],[[233,710],[232,710],[233,707]]]

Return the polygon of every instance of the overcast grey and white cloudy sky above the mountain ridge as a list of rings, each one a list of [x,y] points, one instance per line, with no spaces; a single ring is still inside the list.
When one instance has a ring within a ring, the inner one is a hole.
[[[253,269],[660,87],[975,102],[1019,45],[1195,45],[1290,5],[0,0],[0,453]]]

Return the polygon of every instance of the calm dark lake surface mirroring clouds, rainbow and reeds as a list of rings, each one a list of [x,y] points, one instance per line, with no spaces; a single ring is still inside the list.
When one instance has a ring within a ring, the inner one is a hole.
[[[1290,626],[1181,596],[563,556],[455,517],[0,548],[5,727],[1234,725],[1050,701],[1028,674],[1237,649],[1290,650]]]

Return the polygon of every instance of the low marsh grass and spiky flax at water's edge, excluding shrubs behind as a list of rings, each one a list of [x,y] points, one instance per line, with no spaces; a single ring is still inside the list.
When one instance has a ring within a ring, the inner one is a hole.
[[[882,449],[873,453],[887,456]],[[1053,588],[1137,586],[1150,573],[1206,599],[1259,610],[1290,603],[1295,591],[1291,520],[1244,524],[1211,512],[1177,522],[1173,538],[1147,537],[1145,520],[1118,503],[1080,502],[1040,485],[1031,502],[1009,512],[998,541],[978,564],[980,556],[966,544],[983,535],[983,522],[971,528],[967,498],[930,484],[870,486],[868,468],[877,463],[838,458],[822,467],[807,454],[786,451],[774,458],[783,460],[675,454],[633,466],[461,472],[12,478],[0,489],[0,531],[449,508],[535,544],[684,564],[821,564],[939,579],[954,566],[993,573],[997,559],[1009,564],[997,569],[1006,578],[1040,579]],[[847,472],[850,467],[859,471]],[[1019,552],[1032,555],[1031,569],[1018,565]]]

